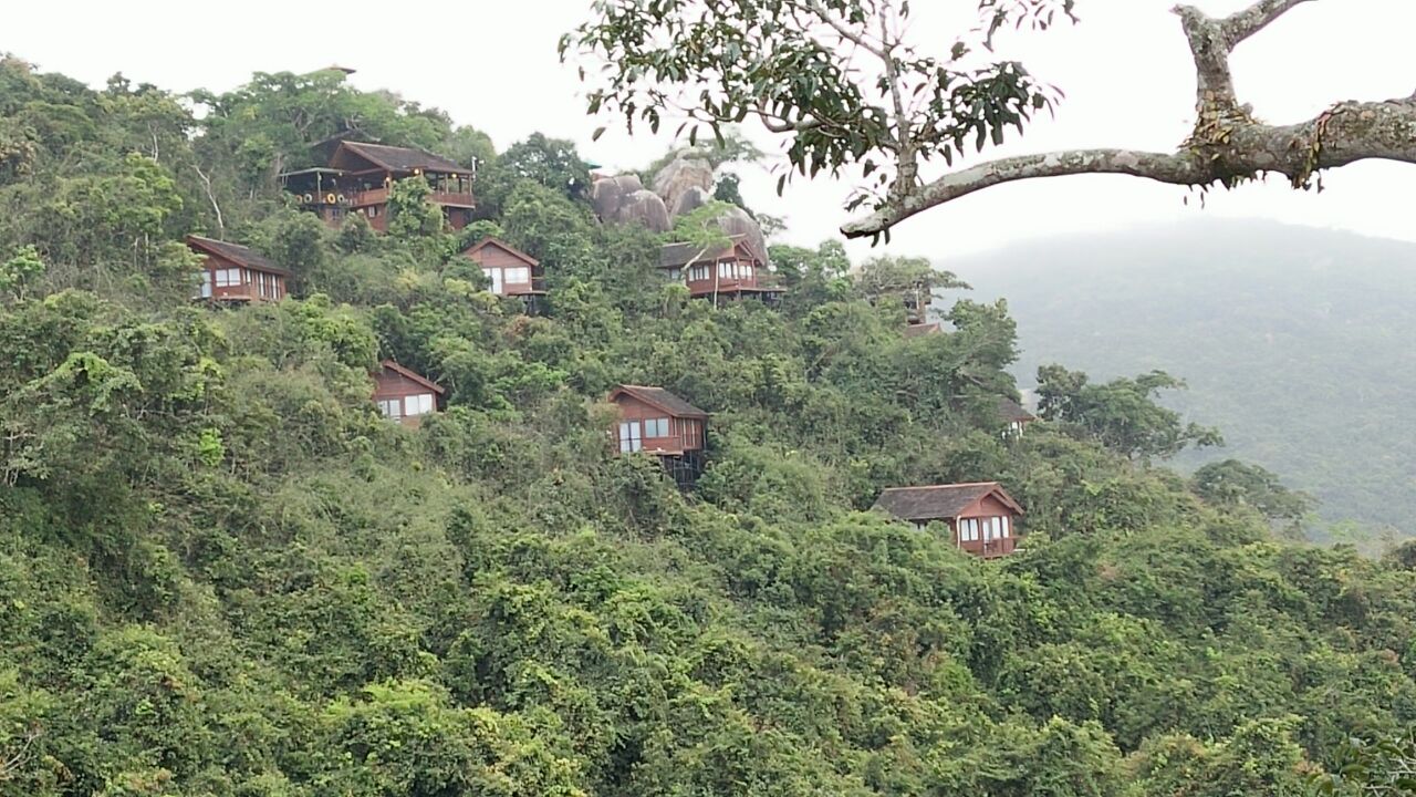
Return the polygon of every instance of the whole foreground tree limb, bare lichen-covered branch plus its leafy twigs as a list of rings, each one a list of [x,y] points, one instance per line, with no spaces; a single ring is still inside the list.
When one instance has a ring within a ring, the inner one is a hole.
[[[1073,149],[984,162],[935,180],[920,163],[952,163],[973,139],[977,149],[1020,132],[1055,92],[1017,62],[964,68],[973,45],[987,45],[1003,24],[1046,27],[1070,1],[986,0],[986,24],[954,38],[943,57],[906,41],[909,3],[891,0],[661,1],[602,0],[596,18],[562,40],[606,61],[589,111],[622,112],[657,128],[673,109],[687,125],[758,118],[792,136],[789,159],[801,174],[838,174],[860,166],[878,173],[872,213],[848,221],[851,238],[886,234],[932,207],[1001,183],[1068,174],[1131,174],[1177,186],[1235,187],[1283,174],[1296,189],[1321,172],[1368,159],[1416,163],[1416,95],[1386,102],[1338,102],[1313,119],[1269,125],[1235,92],[1229,55],[1287,11],[1313,0],[1259,0],[1229,17],[1194,6],[1174,13],[1189,41],[1197,77],[1197,121],[1175,152]],[[918,33],[918,31],[916,31]],[[872,61],[864,65],[861,61]],[[583,71],[582,71],[583,74]],[[784,177],[783,177],[784,180]]]

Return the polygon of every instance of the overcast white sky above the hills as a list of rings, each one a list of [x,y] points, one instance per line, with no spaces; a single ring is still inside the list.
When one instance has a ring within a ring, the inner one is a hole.
[[[966,6],[969,0],[932,0]],[[1039,78],[1066,92],[1055,121],[991,155],[1070,146],[1168,150],[1192,121],[1194,77],[1174,0],[1078,0],[1082,24],[1008,43]],[[1228,13],[1246,0],[1199,0]],[[667,138],[622,129],[590,142],[605,123],[585,116],[573,65],[558,37],[586,18],[589,0],[463,0],[460,3],[302,3],[244,0],[205,4],[161,0],[18,3],[0,11],[0,50],[93,85],[116,71],[171,91],[228,89],[253,71],[309,71],[337,62],[360,88],[391,88],[447,111],[459,123],[507,145],[535,130],[571,138],[607,167],[634,167],[663,152]],[[926,6],[916,3],[918,6]],[[198,10],[200,9],[200,10]],[[940,9],[940,7],[936,7]],[[940,27],[923,17],[916,33]],[[1416,89],[1413,0],[1324,0],[1301,6],[1240,47],[1242,98],[1270,122],[1308,118],[1338,99],[1389,99]],[[677,125],[667,125],[673,129]],[[769,150],[770,139],[763,136]],[[745,173],[749,204],[787,218],[790,243],[814,244],[845,218],[848,184],[797,183],[784,197],[775,177]],[[1327,191],[1281,184],[1211,193],[1206,210],[1185,191],[1134,177],[1065,177],[986,190],[896,228],[891,251],[946,260],[1018,237],[1104,230],[1184,217],[1239,216],[1341,227],[1416,240],[1416,166],[1362,163],[1330,173]],[[852,247],[857,255],[868,245]]]

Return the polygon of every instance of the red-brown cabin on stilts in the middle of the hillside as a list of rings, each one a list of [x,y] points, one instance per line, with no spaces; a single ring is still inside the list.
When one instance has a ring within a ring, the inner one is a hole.
[[[620,454],[653,454],[680,485],[702,474],[708,413],[663,387],[620,384],[609,401],[619,406],[615,444]]]

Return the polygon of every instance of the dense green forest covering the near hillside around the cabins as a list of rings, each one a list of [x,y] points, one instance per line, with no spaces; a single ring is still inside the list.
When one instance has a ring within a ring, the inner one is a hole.
[[[447,233],[418,186],[388,235],[293,210],[276,173],[341,132],[479,159],[483,218]],[[1059,369],[1052,420],[1003,435],[1010,308],[960,298],[905,338],[922,261],[779,245],[780,308],[688,301],[666,237],[598,223],[583,177],[568,142],[496,150],[337,72],[177,98],[0,61],[0,794],[1225,797],[1392,771],[1399,749],[1348,740],[1416,720],[1416,550],[1293,542],[1272,474],[1161,467],[1208,437],[1163,379]],[[293,296],[193,303],[188,233],[255,247]],[[459,257],[490,233],[545,264],[542,315]],[[382,420],[381,357],[446,411]],[[613,454],[622,381],[712,413],[694,489]],[[977,479],[1028,509],[1007,560],[862,512]]]

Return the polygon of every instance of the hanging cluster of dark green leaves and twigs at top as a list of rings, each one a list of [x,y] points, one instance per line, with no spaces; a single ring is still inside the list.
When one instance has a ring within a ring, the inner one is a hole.
[[[1072,0],[984,0],[977,26],[930,54],[910,37],[908,0],[602,0],[561,55],[606,64],[590,113],[620,113],[630,130],[681,116],[694,142],[750,118],[792,136],[787,159],[804,176],[860,166],[869,184],[850,207],[878,208],[916,194],[923,163],[1001,143],[1052,106],[1056,92],[1021,64],[973,54],[1007,24],[1046,27],[1059,11]]]

